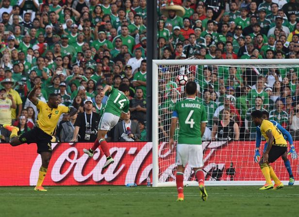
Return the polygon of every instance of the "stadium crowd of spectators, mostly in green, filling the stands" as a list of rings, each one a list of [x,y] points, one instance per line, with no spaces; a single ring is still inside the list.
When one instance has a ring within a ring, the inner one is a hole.
[[[160,0],[157,10],[160,59],[299,58],[296,0]],[[108,141],[145,141],[146,26],[146,0],[1,0],[0,124],[13,123],[20,134],[32,129],[38,111],[27,95],[43,82],[35,93],[40,100],[55,93],[80,113],[61,117],[57,139],[86,141],[74,129],[87,124],[96,129],[99,122],[92,117],[88,122],[84,111],[100,118],[108,99],[100,97],[103,87],[127,83],[131,119],[120,121]],[[254,138],[250,112],[257,109],[269,111],[270,119],[298,138],[299,67],[185,71],[199,84],[199,100],[208,112],[205,139]],[[172,107],[182,94],[175,83],[178,72],[160,70],[161,138],[168,135]],[[7,142],[5,129],[0,131]]]

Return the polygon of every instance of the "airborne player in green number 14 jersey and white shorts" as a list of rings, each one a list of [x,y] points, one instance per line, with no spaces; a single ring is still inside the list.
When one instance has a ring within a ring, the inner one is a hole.
[[[106,156],[104,169],[114,163],[109,151],[108,143],[105,141],[105,135],[118,123],[119,118],[125,119],[127,117],[130,104],[129,99],[127,98],[127,96],[130,95],[129,86],[127,84],[121,83],[118,89],[106,85],[100,92],[100,96],[104,97],[106,92],[109,97],[104,108],[104,114],[100,118],[98,138],[92,148],[83,149],[84,153],[88,154],[89,157],[93,157],[94,151],[100,146]],[[86,134],[87,133],[88,132],[86,132]]]

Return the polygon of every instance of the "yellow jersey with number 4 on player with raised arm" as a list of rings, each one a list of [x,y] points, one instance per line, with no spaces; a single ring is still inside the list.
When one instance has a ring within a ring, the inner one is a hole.
[[[64,105],[58,105],[57,108],[51,109],[46,102],[40,100],[38,100],[36,108],[38,112],[36,126],[49,135],[55,133],[60,115],[70,111],[70,108]]]

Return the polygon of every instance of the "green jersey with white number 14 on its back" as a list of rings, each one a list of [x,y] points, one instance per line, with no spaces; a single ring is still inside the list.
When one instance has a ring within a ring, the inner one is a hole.
[[[126,95],[118,89],[111,87],[111,91],[108,92],[108,100],[104,109],[104,113],[111,113],[120,117],[121,112],[128,113],[129,99]]]

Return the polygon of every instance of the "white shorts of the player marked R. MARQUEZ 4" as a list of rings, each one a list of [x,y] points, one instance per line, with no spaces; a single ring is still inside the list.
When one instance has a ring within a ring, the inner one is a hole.
[[[177,165],[197,168],[203,166],[203,154],[201,145],[178,144],[177,145]]]

